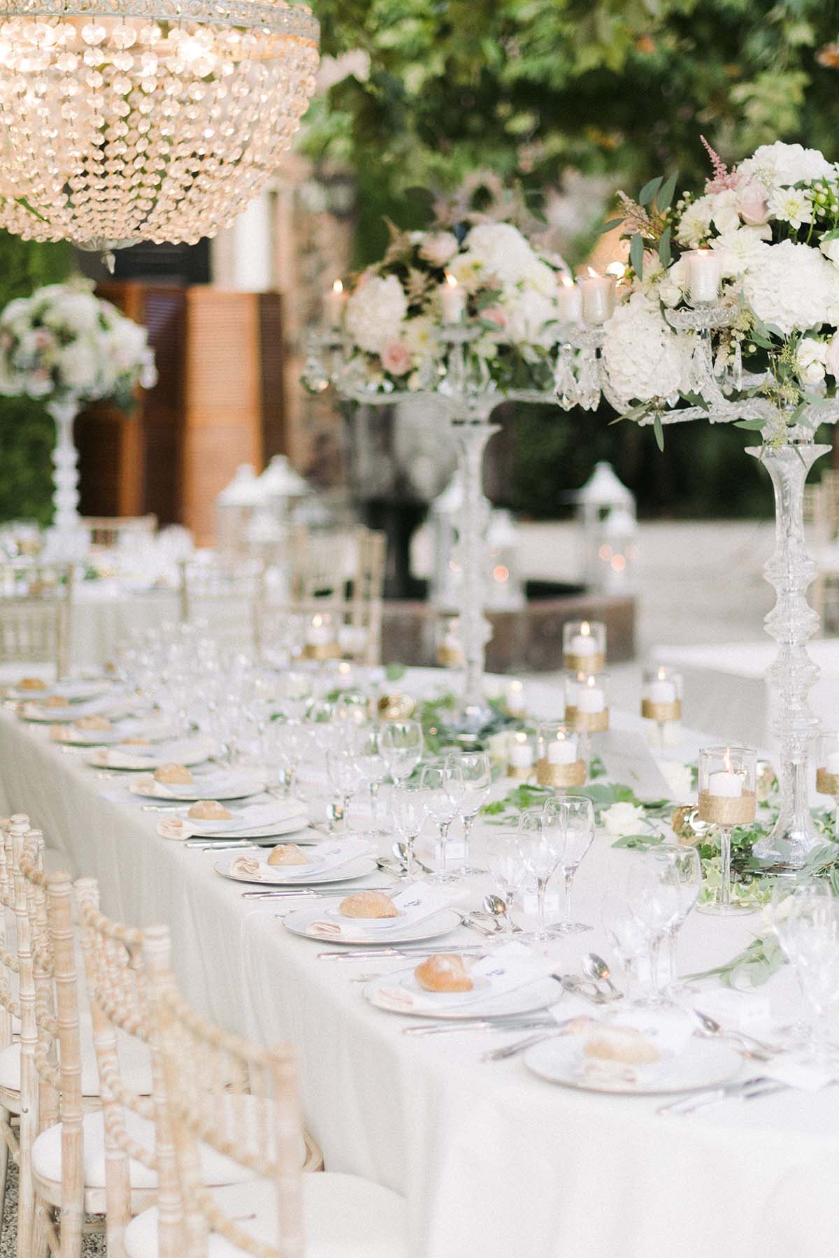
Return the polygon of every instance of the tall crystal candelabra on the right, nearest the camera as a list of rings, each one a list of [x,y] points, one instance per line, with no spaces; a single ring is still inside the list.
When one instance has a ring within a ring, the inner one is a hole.
[[[733,326],[738,314],[737,303],[725,301],[694,302],[689,308],[665,311],[672,327],[693,337],[689,389],[703,399],[704,405],[669,410],[670,403],[663,399],[655,414],[640,421],[650,424],[655,418],[662,424],[693,419],[712,424],[752,420],[761,430],[764,444],[747,448],[747,453],[764,464],[775,492],[775,551],[764,574],[777,595],[765,624],[779,645],[769,676],[772,683],[772,732],[781,767],[777,821],[753,852],[767,866],[795,871],[823,843],[809,806],[810,743],[819,720],[810,710],[808,694],[819,669],[810,659],[806,644],[819,628],[819,618],[806,600],[816,565],[808,555],[804,536],[804,482],[815,460],[830,449],[829,445],[816,445],[814,433],[819,424],[839,419],[839,398],[804,405],[796,413],[796,423],[790,424],[790,416],[757,391],[769,377],[743,371],[738,347],[714,359],[712,333]],[[589,396],[594,392],[599,401],[603,392],[615,410],[625,411],[625,399],[615,396],[609,384],[608,367],[600,353],[603,342],[591,345],[577,337],[570,343],[576,345],[589,361],[587,377],[582,367],[577,372],[577,394]],[[572,385],[569,389],[574,391]],[[743,396],[746,391],[748,395]],[[580,401],[580,405],[584,403]]]

